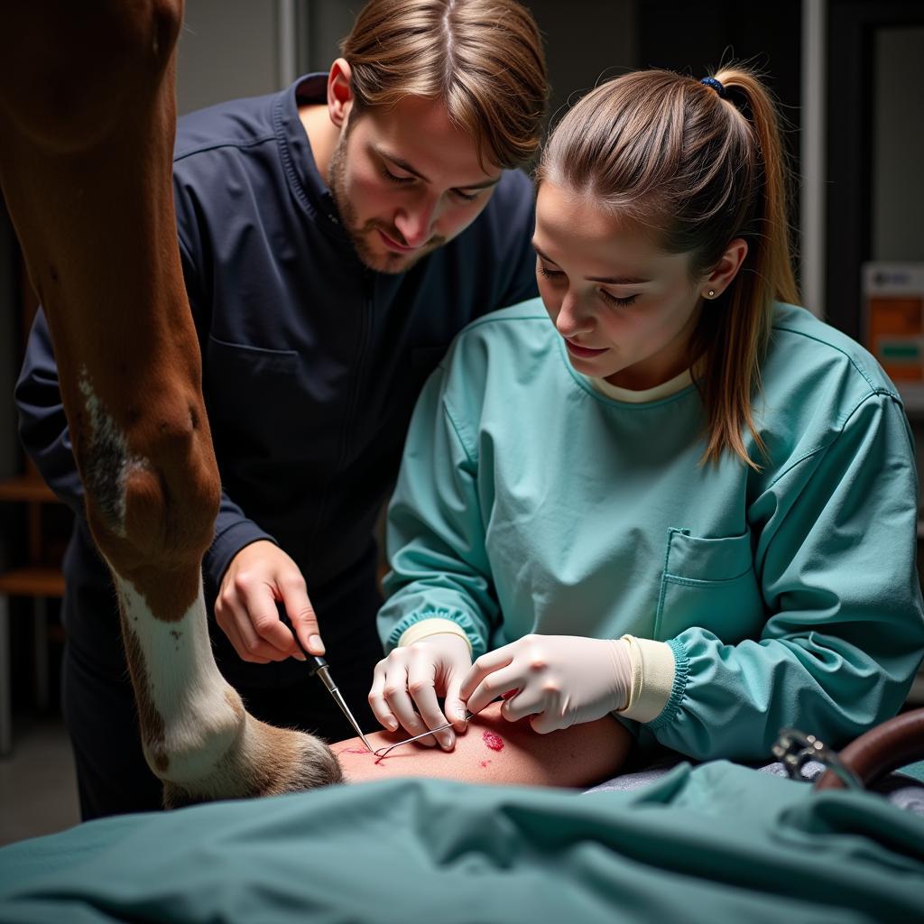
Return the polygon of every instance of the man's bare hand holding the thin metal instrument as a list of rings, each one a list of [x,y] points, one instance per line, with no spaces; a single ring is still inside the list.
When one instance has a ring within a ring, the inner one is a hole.
[[[277,601],[285,604],[302,646],[311,654],[323,654],[318,617],[308,599],[305,578],[274,542],[251,542],[231,559],[215,600],[215,622],[243,661],[304,661],[292,632],[279,619]]]

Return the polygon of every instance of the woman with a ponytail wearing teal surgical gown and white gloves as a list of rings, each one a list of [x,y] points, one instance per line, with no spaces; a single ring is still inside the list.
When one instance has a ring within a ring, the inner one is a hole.
[[[760,80],[602,84],[537,188],[541,298],[471,324],[415,412],[373,711],[452,748],[506,694],[537,732],[612,713],[701,760],[893,715],[924,646],[912,440],[797,307]]]

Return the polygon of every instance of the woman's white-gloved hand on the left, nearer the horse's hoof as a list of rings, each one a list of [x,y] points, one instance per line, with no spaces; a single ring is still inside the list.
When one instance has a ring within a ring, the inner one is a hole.
[[[372,712],[389,731],[403,725],[411,736],[447,722],[452,722],[456,731],[464,731],[465,706],[459,687],[469,667],[468,642],[448,632],[396,648],[375,665],[369,691]],[[441,696],[443,710],[437,699]],[[420,744],[428,747],[436,743],[446,750],[454,748],[453,728],[420,739]]]

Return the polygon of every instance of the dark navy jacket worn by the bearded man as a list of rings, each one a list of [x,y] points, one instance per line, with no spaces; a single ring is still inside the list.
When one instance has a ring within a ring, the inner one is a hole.
[[[465,324],[536,294],[533,193],[518,171],[505,172],[472,225],[406,274],[366,269],[298,119],[299,104],[323,102],[325,85],[325,74],[312,74],[177,126],[180,255],[223,485],[203,563],[210,603],[234,555],[259,539],[291,555],[312,599],[332,596],[324,589],[358,568],[368,579],[375,518],[424,380]],[[80,612],[81,595],[89,600],[109,578],[82,522],[41,312],[17,401],[27,451],[79,515],[65,563],[65,620],[70,638],[89,638],[100,614]],[[329,608],[326,616],[325,640],[346,633],[350,619],[374,618]],[[268,668],[284,665],[261,672]]]

